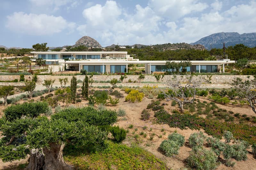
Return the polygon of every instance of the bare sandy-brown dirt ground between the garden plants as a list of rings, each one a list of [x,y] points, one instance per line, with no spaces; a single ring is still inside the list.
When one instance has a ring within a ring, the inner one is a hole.
[[[95,89],[95,90],[97,90],[97,89]],[[102,90],[102,89],[99,89],[99,90]],[[115,90],[120,91],[120,89],[118,89],[118,88]],[[124,94],[124,97],[127,95],[123,91],[120,91],[120,92]],[[45,95],[47,95],[47,94],[44,94],[44,96]],[[142,110],[147,107],[147,105],[151,102],[151,100],[156,100],[156,99],[148,99],[147,97],[144,97],[142,102],[132,103],[132,102],[125,102],[124,97],[119,99],[120,102],[117,104],[117,106],[115,106],[115,107],[107,106],[107,108],[109,108],[109,109],[116,109],[116,110],[118,110],[119,108],[122,108],[126,112],[126,115],[124,117],[118,117],[118,122],[116,123],[116,125],[119,125],[120,127],[123,127],[124,129],[128,129],[128,126],[130,124],[133,125],[133,128],[129,129],[127,137],[123,141],[123,143],[127,144],[127,145],[131,145],[132,143],[139,144],[142,148],[151,152],[157,158],[163,160],[166,163],[166,166],[170,169],[182,170],[182,169],[188,168],[186,166],[186,159],[188,158],[189,151],[191,151],[191,148],[188,146],[188,143],[187,143],[188,137],[191,135],[191,133],[198,132],[198,130],[191,130],[191,129],[181,130],[179,128],[170,128],[169,125],[167,125],[167,124],[154,124],[153,123],[154,122],[154,116],[153,116],[154,112],[153,111],[151,111],[150,119],[148,121],[142,121],[142,120],[140,120]],[[40,97],[36,97],[33,99],[40,100]],[[200,97],[200,100],[202,100],[202,101],[205,100],[207,102],[210,102],[206,98]],[[21,102],[23,102],[23,101],[21,101]],[[178,109],[177,107],[171,106],[171,101],[169,101],[169,102],[166,102],[164,100],[161,101],[161,103],[163,103],[163,102],[168,104],[168,105],[164,106],[164,109],[167,110],[169,113],[172,113],[172,110],[174,110],[174,109]],[[234,107],[232,105],[221,105],[221,104],[216,104],[216,105],[220,108],[225,108],[228,111],[231,110],[234,113],[239,112],[241,114],[246,114],[246,115],[255,115],[252,112],[252,110],[250,110],[250,107],[247,107],[247,106],[246,107],[245,106]],[[76,104],[76,106],[78,106],[78,107],[88,106],[88,101],[82,101],[81,103]],[[4,109],[4,106],[0,106],[0,117],[3,114],[3,109]],[[144,126],[147,126],[147,128],[143,129]],[[152,130],[150,130],[150,128],[152,128]],[[161,129],[164,129],[164,131],[162,131]],[[159,150],[159,145],[161,144],[161,142],[163,140],[167,139],[167,137],[170,133],[174,132],[175,130],[177,130],[177,132],[180,133],[181,135],[185,136],[186,143],[184,146],[180,147],[179,155],[177,155],[176,157],[172,157],[172,158],[166,157]],[[204,130],[201,130],[201,131],[204,132]],[[147,136],[143,137],[142,135],[140,135],[140,132],[146,133]],[[136,134],[139,135],[139,137],[137,139],[134,138],[134,135],[136,135]],[[154,135],[153,139],[150,140],[149,138],[152,135]],[[204,133],[204,135],[209,136],[206,133]],[[249,151],[249,153],[247,154],[248,159],[246,161],[238,162],[238,161],[234,160],[236,162],[234,167],[227,167],[227,166],[221,164],[217,169],[218,170],[221,170],[221,169],[256,170],[256,159],[253,158],[253,156],[251,154],[251,150],[248,150],[248,151]],[[17,165],[19,163],[25,163],[26,161],[27,161],[27,159],[20,160],[20,161],[14,161],[11,163],[10,162],[2,163],[2,161],[0,160],[0,169],[4,169],[4,168],[10,169],[12,167],[17,167]]]

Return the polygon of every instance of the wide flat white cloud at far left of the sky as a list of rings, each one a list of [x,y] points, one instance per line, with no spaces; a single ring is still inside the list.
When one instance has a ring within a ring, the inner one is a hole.
[[[24,12],[14,12],[7,16],[5,25],[8,29],[16,33],[28,35],[52,35],[60,33],[64,29],[73,30],[75,23],[67,22],[61,16],[55,17],[46,14],[26,14]]]

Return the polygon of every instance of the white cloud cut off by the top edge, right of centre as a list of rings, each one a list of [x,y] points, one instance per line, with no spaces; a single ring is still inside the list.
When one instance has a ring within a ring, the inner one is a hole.
[[[149,0],[148,6],[159,16],[176,20],[193,12],[201,12],[208,4],[198,0]]]

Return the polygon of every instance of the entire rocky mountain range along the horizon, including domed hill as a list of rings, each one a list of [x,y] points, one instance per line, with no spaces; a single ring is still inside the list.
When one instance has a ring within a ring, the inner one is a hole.
[[[187,43],[165,43],[165,44],[156,44],[152,45],[152,47],[157,47],[159,50],[176,50],[176,49],[211,49],[211,48],[223,48],[223,43],[225,42],[225,47],[228,46],[235,46],[236,44],[244,44],[247,47],[256,47],[256,33],[243,33],[239,34],[236,32],[233,33],[214,33],[209,36],[206,36],[204,38],[201,38],[200,40],[187,44]],[[100,43],[89,36],[83,36],[79,40],[76,41],[75,45],[72,47],[77,47],[79,45],[84,45],[88,48],[102,48]],[[115,48],[115,44],[112,44],[110,46],[107,46],[105,48]],[[147,47],[148,45],[143,44],[134,44],[134,45],[128,45],[130,48],[137,46],[138,48],[141,47]],[[7,48],[5,46],[0,46],[0,48],[3,47],[5,49],[10,48],[16,48],[20,49],[20,47],[10,47]],[[49,49],[54,48],[65,48],[63,47],[49,47]],[[122,46],[119,46],[122,47]]]

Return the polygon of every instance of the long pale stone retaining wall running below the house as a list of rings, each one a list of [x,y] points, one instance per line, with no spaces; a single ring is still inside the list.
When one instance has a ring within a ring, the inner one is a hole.
[[[33,75],[25,75],[25,79],[32,79]],[[65,78],[68,77],[68,79],[71,79],[72,76],[51,76],[51,75],[37,75],[38,81],[37,83],[42,83],[45,79],[56,79],[59,78]],[[84,75],[77,75],[77,80],[83,81]],[[120,75],[94,75],[92,77],[93,80],[100,82],[100,81],[110,81],[113,78],[116,78],[117,80],[120,79]],[[211,82],[212,84],[229,84],[232,82],[235,78],[242,78],[243,80],[248,79],[247,75],[199,75],[194,76],[196,79],[205,78],[208,82]],[[132,82],[136,81],[139,82],[139,75],[127,75],[127,78],[124,79],[123,83],[128,83],[128,80],[131,79]],[[159,82],[164,83],[167,79],[172,78],[171,75],[164,75],[164,77],[160,77]],[[14,79],[20,79],[19,75],[4,75],[0,76],[0,80],[14,80]],[[253,76],[250,76],[250,79],[253,79]],[[58,81],[56,81],[57,83]],[[141,82],[157,82],[154,75],[145,75],[145,78],[141,80]]]

